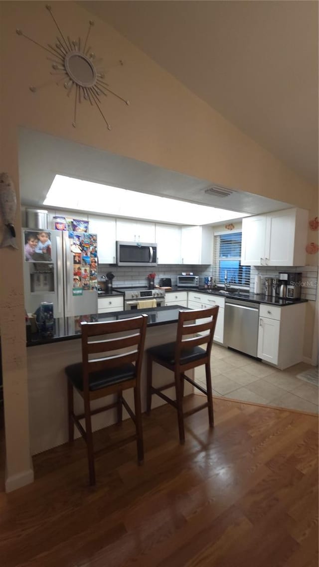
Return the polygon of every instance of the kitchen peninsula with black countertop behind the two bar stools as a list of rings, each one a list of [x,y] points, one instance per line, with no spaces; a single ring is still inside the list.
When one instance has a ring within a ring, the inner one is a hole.
[[[68,412],[66,395],[65,366],[81,361],[81,320],[115,321],[146,313],[148,327],[146,331],[145,350],[151,346],[174,341],[177,333],[179,310],[178,305],[144,309],[141,311],[121,311],[115,313],[81,315],[65,320],[54,320],[52,337],[34,335],[28,341],[28,392],[30,410],[30,442],[31,454],[35,455],[49,448],[62,445],[68,441]],[[142,363],[141,403],[142,412],[146,409],[146,356]],[[192,377],[190,371],[190,377]],[[171,373],[161,366],[154,365],[153,383],[155,387],[172,382]],[[185,383],[185,395],[192,393],[193,387]],[[167,390],[167,395],[175,399],[174,388]],[[125,392],[125,397],[133,407],[133,390]],[[96,400],[92,408],[105,405],[105,399]],[[152,407],[165,402],[153,396]],[[75,413],[83,409],[82,398],[75,392]],[[123,411],[123,419],[128,414]],[[92,416],[93,430],[102,429],[116,422],[116,409],[107,413]],[[75,437],[79,437],[75,429]]]

